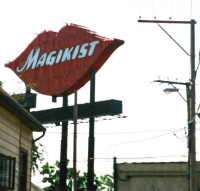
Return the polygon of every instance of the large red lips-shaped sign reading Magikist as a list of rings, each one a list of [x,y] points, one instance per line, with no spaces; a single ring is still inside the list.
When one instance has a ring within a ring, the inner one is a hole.
[[[124,41],[101,37],[69,24],[58,33],[40,33],[14,61],[5,64],[34,90],[51,96],[71,94],[90,79]]]

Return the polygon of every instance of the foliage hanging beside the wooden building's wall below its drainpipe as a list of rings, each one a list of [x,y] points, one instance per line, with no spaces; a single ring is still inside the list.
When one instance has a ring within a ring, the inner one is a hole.
[[[44,152],[43,145],[33,143],[32,145],[32,171],[35,174],[36,170],[39,170],[38,163],[42,163],[44,158],[42,153]]]

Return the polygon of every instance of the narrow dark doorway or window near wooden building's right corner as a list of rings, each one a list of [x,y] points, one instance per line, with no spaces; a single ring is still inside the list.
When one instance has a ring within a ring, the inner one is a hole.
[[[28,151],[21,147],[20,152],[20,191],[26,191]]]

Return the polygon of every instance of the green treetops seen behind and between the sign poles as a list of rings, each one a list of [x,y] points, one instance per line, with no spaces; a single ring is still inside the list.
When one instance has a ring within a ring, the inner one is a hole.
[[[47,186],[44,188],[44,190],[56,190],[59,186],[59,175],[60,175],[60,163],[56,161],[54,166],[50,166],[47,162],[44,166],[42,166],[42,170],[40,174],[42,174],[43,183],[49,183],[50,186]],[[68,168],[67,169],[67,190],[71,190],[72,186],[72,175],[73,175],[73,169]],[[114,183],[113,178],[110,175],[104,175],[97,177],[94,176],[94,185],[97,186],[97,191],[102,191],[106,189],[107,191],[113,191]],[[80,171],[77,171],[77,187],[78,188],[86,188],[87,187],[87,173]]]

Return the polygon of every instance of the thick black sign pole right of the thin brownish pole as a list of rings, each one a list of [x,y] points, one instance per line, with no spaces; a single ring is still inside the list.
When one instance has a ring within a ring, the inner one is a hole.
[[[95,70],[90,72],[90,103],[95,102]],[[94,191],[94,117],[89,120],[87,191]]]

